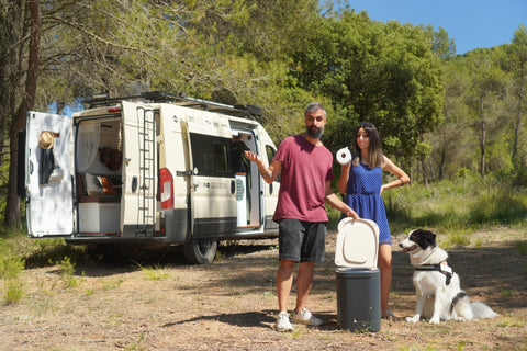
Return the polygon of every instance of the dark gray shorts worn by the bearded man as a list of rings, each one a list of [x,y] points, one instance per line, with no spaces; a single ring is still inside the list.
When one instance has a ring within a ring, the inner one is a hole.
[[[326,249],[326,222],[282,218],[279,224],[279,259],[323,262]]]

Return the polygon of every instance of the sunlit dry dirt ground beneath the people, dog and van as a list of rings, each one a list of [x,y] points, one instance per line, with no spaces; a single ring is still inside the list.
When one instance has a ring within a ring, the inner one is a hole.
[[[318,328],[273,330],[277,240],[239,241],[222,245],[214,264],[188,265],[172,254],[78,265],[72,287],[57,265],[31,267],[30,258],[26,296],[0,306],[0,350],[527,350],[527,256],[517,244],[525,248],[525,233],[476,233],[471,246],[448,249],[461,286],[500,317],[382,320],[380,331],[366,333],[338,326],[335,237],[329,233],[309,301],[325,320]],[[396,246],[403,238],[393,237],[391,293],[401,317],[415,304],[413,269]]]

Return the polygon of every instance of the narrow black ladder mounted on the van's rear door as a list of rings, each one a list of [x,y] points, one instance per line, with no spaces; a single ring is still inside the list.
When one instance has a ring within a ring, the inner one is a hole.
[[[139,134],[139,178],[138,191],[141,193],[139,218],[137,218],[137,236],[152,237],[155,227],[156,194],[156,125],[154,110],[137,110]]]

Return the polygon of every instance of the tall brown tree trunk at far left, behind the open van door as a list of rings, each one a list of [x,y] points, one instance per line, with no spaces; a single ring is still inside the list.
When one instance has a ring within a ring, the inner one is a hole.
[[[8,201],[5,205],[4,224],[10,228],[20,228],[20,200],[16,194],[18,186],[18,166],[19,166],[19,131],[25,128],[25,114],[33,109],[36,95],[36,81],[38,77],[38,60],[41,50],[41,31],[42,21],[40,12],[40,1],[29,0],[30,10],[30,48],[27,61],[27,75],[25,79],[25,93],[22,102],[13,117],[9,129],[10,137],[10,165]]]

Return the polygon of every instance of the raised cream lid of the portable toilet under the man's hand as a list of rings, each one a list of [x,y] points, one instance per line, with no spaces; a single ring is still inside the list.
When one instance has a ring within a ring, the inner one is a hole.
[[[344,268],[377,268],[379,227],[373,220],[344,218],[338,224],[335,264]]]

